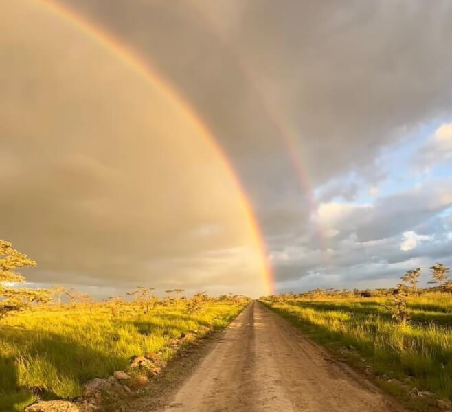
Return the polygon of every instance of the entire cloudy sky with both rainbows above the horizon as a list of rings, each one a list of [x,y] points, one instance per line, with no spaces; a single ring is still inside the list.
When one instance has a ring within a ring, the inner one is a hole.
[[[452,266],[450,1],[3,8],[0,238],[31,284],[254,297]]]

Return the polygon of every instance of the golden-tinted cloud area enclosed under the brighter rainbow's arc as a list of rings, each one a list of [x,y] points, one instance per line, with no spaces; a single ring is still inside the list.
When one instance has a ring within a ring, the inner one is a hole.
[[[0,16],[0,47],[18,56],[0,66],[1,237],[38,262],[27,278],[196,291],[208,277],[210,291],[262,293],[244,199],[199,126],[45,10],[14,2]]]

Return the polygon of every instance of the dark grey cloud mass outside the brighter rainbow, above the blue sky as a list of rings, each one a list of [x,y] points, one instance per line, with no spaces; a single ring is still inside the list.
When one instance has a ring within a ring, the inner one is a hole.
[[[314,187],[374,173],[382,146],[452,107],[447,0],[60,2],[158,67],[207,120],[256,203],[282,176],[296,190],[294,154]]]

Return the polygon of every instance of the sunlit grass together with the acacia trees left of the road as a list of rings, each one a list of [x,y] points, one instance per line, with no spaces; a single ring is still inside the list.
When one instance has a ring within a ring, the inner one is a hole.
[[[159,298],[147,286],[95,302],[61,286],[19,288],[23,266],[36,262],[0,241],[0,411],[23,411],[40,398],[78,398],[87,382],[114,371],[159,374],[179,348],[225,327],[249,302],[205,293],[185,298],[182,289]],[[146,369],[132,370],[139,359]]]

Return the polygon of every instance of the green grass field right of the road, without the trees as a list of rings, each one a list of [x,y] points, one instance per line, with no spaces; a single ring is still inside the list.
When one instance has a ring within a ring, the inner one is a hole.
[[[381,384],[389,391],[403,395],[417,387],[452,399],[451,295],[409,297],[411,321],[405,326],[391,318],[388,298],[264,303],[299,325],[315,341],[365,360],[374,373],[384,377]],[[387,380],[394,385],[387,385]]]

